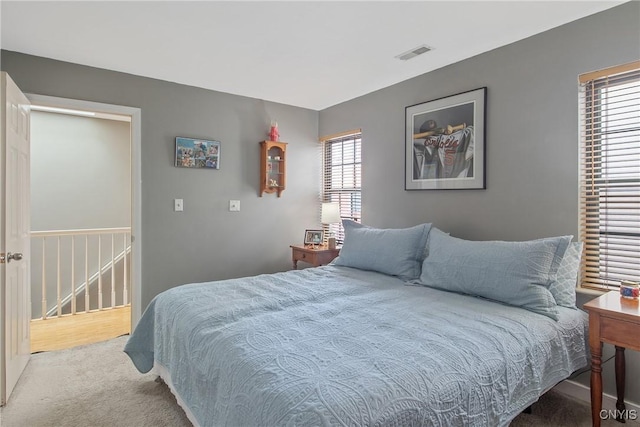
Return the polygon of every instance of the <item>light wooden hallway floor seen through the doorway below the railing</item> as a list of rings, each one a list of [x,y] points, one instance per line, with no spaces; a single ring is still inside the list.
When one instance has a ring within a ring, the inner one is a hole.
[[[131,306],[31,321],[31,353],[63,350],[131,333]]]

